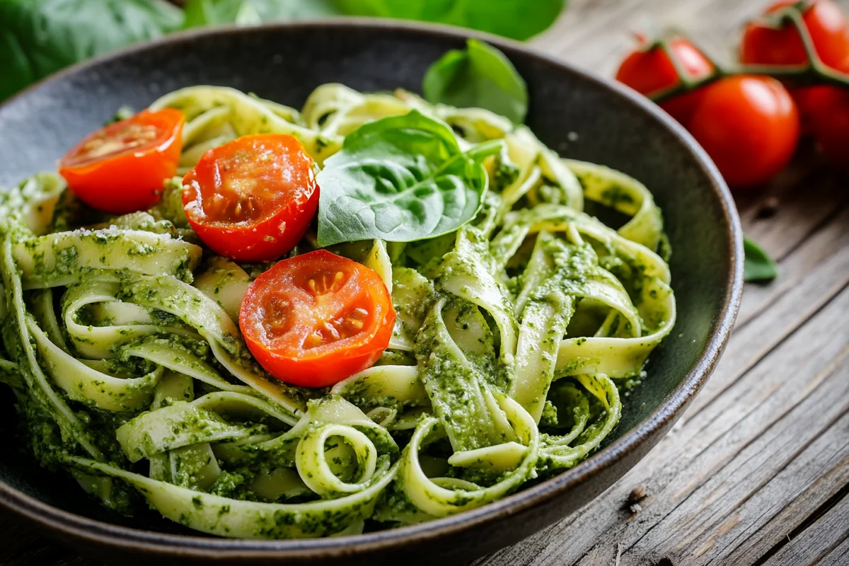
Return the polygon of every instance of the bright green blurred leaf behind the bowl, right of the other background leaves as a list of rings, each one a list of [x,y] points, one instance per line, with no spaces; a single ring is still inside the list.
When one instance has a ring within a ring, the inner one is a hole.
[[[525,40],[554,23],[565,0],[335,0],[346,14],[460,25]]]

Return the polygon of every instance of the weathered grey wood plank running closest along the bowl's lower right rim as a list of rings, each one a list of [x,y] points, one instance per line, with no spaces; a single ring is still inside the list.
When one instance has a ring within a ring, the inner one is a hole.
[[[573,563],[591,549],[593,552],[585,563],[612,563],[616,543],[630,546],[638,541],[711,476],[720,474],[733,462],[747,443],[768,429],[773,415],[804,401],[814,384],[824,380],[820,372],[845,346],[849,325],[841,322],[844,318],[841,309],[847,307],[849,292],[844,292],[834,305],[819,311],[793,334],[782,348],[773,350],[745,373],[745,378],[738,378],[726,395],[661,441],[637,468],[588,507],[563,524],[481,563],[492,566]],[[787,384],[785,375],[796,375],[798,379]],[[622,504],[639,483],[646,485],[655,498],[646,503],[643,513],[629,521]],[[679,526],[670,525],[667,529],[683,535]]]

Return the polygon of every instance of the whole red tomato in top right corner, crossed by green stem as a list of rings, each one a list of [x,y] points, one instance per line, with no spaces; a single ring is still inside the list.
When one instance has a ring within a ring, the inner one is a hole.
[[[780,0],[767,14],[796,3]],[[824,64],[840,69],[849,64],[849,20],[832,0],[814,0],[802,14],[813,47]],[[745,27],[740,61],[746,64],[804,64],[807,61],[799,31],[790,22],[776,30],[757,21]]]

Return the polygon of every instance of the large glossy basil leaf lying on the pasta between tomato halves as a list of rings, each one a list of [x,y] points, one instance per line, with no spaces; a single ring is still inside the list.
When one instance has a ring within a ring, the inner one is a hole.
[[[411,242],[457,230],[481,208],[482,161],[502,145],[463,152],[451,128],[416,110],[361,126],[318,173],[318,245]]]

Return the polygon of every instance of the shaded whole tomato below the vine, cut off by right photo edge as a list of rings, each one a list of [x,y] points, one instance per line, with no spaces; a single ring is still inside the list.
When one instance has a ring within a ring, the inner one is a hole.
[[[825,159],[835,167],[849,169],[849,89],[807,87],[799,104]]]

